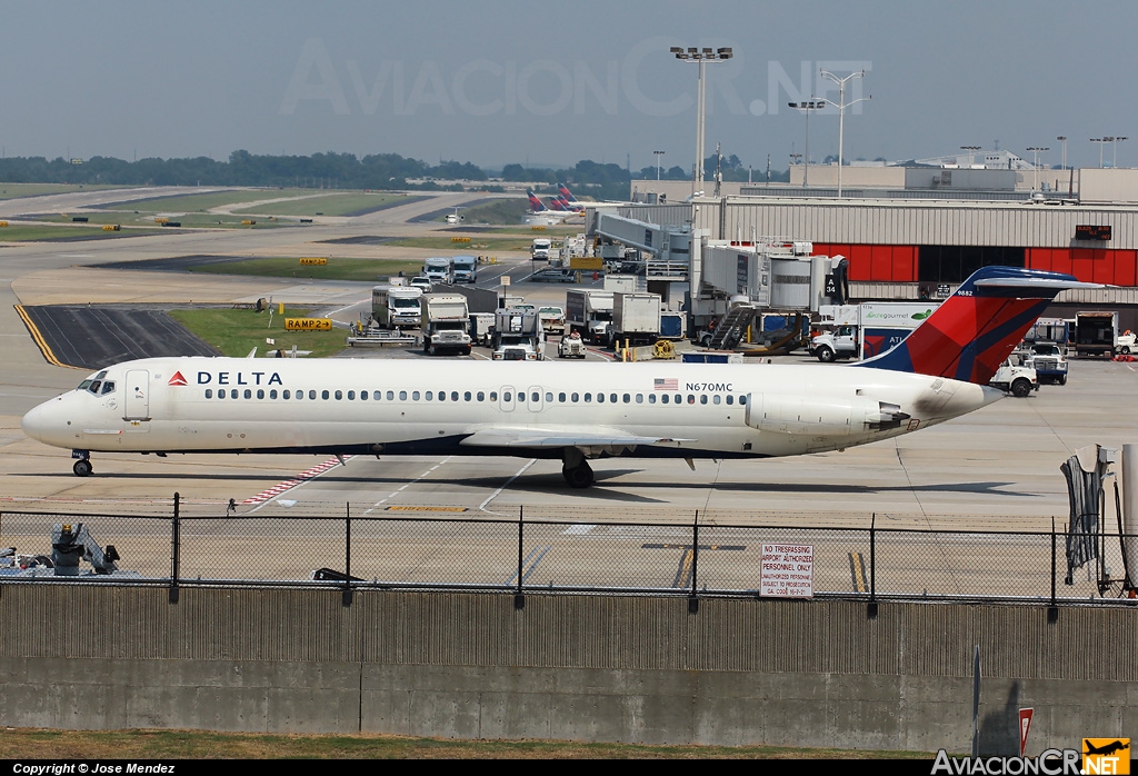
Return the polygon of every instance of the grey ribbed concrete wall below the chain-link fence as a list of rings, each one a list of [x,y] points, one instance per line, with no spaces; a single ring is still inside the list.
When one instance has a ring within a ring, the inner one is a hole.
[[[1138,733],[1116,608],[0,586],[0,724],[986,752]]]

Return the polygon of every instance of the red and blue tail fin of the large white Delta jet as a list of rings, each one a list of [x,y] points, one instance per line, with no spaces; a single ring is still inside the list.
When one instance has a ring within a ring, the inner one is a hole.
[[[1102,286],[1059,272],[981,267],[897,347],[861,365],[986,386],[1055,295],[1069,288]]]

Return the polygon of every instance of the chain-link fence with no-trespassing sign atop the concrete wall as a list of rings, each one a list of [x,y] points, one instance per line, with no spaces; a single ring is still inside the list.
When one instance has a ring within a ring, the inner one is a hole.
[[[96,550],[117,555],[118,570],[93,573],[81,564],[81,579],[172,587],[323,584],[1050,603],[1130,593],[1118,534],[1092,537],[1097,556],[1072,570],[1062,530],[882,528],[874,515],[859,527],[817,527],[785,525],[802,521],[790,515],[782,515],[782,525],[737,525],[729,519],[745,515],[721,512],[618,521],[610,510],[576,507],[497,517],[430,506],[354,513],[348,505],[343,514],[195,512],[5,511],[0,581],[59,580],[53,528],[77,530],[83,523]]]

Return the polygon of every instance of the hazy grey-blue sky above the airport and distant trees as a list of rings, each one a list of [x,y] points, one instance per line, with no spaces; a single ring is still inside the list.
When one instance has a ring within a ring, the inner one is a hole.
[[[698,67],[670,46],[724,47],[708,74],[706,149],[785,170],[838,100],[848,158],[1046,146],[1097,166],[1090,138],[1129,135],[1138,166],[1135,0],[526,0],[113,2],[8,0],[0,146],[8,156],[395,152],[501,166],[583,158],[690,168]],[[1114,148],[1105,147],[1110,164]],[[838,151],[836,110],[810,155]]]

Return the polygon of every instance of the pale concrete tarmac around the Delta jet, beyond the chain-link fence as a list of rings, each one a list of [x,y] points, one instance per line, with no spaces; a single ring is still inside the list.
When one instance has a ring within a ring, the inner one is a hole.
[[[121,200],[123,195],[110,192],[107,198]],[[7,355],[0,374],[0,506],[168,511],[178,492],[187,510],[203,514],[223,514],[233,498],[242,511],[281,515],[340,513],[351,503],[361,510],[427,505],[487,515],[512,514],[523,506],[527,514],[576,515],[589,521],[690,522],[699,510],[720,522],[867,526],[876,520],[879,526],[894,527],[1049,530],[1053,518],[1061,526],[1066,521],[1066,488],[1058,467],[1073,451],[1092,443],[1119,447],[1138,441],[1138,412],[1133,410],[1138,372],[1131,364],[1104,361],[1073,362],[1066,386],[1045,386],[1028,398],[1007,398],[943,426],[844,453],[696,461],[694,471],[681,461],[610,459],[594,464],[597,484],[587,490],[568,489],[559,462],[525,457],[356,457],[279,490],[324,459],[100,454],[97,473],[76,478],[68,451],[28,440],[20,431],[24,412],[73,389],[84,374],[44,361],[16,314],[16,304],[233,304],[272,296],[328,311],[345,322],[356,320],[370,305],[370,284],[94,265],[185,256],[308,256],[314,243],[324,245],[327,253],[324,241],[331,239],[442,232],[443,224],[406,222],[462,203],[462,195],[447,193],[360,218],[329,218],[305,229],[189,230],[77,247],[27,243],[0,250],[0,303],[6,303],[0,304],[0,342]],[[40,209],[25,208],[22,212]],[[437,251],[368,243],[336,248],[337,255],[353,257],[420,258],[432,253]],[[512,291],[527,300],[563,304],[564,287],[525,282],[531,271],[527,256],[497,258],[498,265],[483,282],[497,282],[494,275],[509,273]],[[421,357],[386,349],[345,355]],[[784,358],[811,363],[802,355]],[[461,361],[456,360],[456,368]],[[817,364],[817,369],[842,368]],[[748,369],[762,369],[762,364]]]

